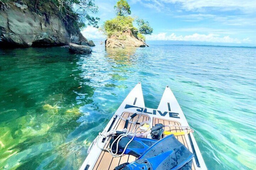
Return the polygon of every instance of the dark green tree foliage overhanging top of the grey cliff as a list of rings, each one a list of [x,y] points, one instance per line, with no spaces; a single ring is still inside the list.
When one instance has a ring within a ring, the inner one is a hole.
[[[1,3],[16,2],[17,0],[0,0]],[[50,14],[58,15],[70,32],[77,32],[86,25],[98,28],[100,18],[91,14],[98,12],[98,6],[94,0],[19,0],[19,3],[26,4],[31,11],[44,15],[47,18]]]

